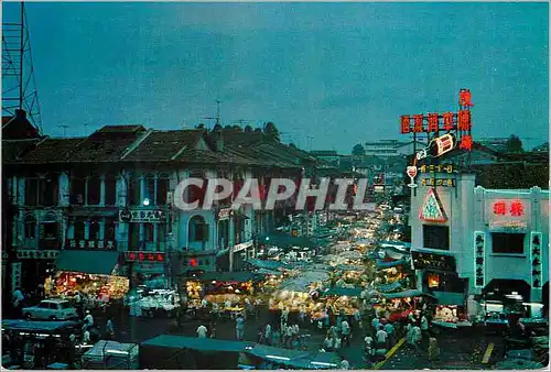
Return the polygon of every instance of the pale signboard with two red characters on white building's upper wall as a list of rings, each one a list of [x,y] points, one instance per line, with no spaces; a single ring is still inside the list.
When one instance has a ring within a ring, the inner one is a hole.
[[[486,205],[486,212],[490,230],[526,230],[531,212],[530,200],[489,199]]]

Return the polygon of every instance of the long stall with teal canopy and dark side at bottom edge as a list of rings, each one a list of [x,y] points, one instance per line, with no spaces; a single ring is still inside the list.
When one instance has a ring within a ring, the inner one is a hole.
[[[237,370],[240,353],[253,343],[160,335],[140,343],[140,369]]]

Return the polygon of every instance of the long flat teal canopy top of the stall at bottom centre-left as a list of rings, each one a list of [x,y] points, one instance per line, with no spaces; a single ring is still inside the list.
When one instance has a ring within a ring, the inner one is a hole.
[[[172,335],[160,335],[140,343],[141,347],[160,347],[171,349],[193,349],[199,351],[242,352],[252,348],[253,343],[212,338],[196,338]]]

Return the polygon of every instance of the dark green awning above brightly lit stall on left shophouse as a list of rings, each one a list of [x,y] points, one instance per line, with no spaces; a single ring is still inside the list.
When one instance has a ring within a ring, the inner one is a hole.
[[[68,251],[57,255],[58,271],[110,275],[119,263],[119,252],[112,251]]]

